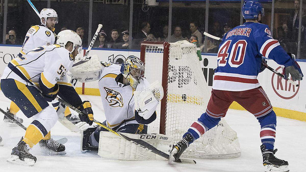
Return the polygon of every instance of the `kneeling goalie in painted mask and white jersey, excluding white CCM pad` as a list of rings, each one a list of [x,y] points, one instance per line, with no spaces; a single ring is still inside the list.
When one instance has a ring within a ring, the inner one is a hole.
[[[135,56],[129,56],[121,66],[105,62],[101,64],[102,69],[97,77],[87,78],[99,80],[106,117],[103,123],[118,132],[146,134],[147,124],[156,119],[155,110],[163,97],[161,84],[149,84],[144,78],[144,63]],[[79,80],[87,79],[76,76],[74,69],[70,71]],[[152,92],[149,88],[154,84],[157,89]],[[83,131],[82,151],[98,151],[100,131],[107,130],[96,127]]]

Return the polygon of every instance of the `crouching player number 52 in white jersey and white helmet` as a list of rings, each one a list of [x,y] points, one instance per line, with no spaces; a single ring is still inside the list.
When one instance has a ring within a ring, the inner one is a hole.
[[[3,94],[16,103],[24,115],[34,119],[25,136],[13,148],[11,158],[7,160],[9,163],[33,166],[36,157],[29,150],[43,138],[47,140],[43,143],[46,148],[56,152],[65,151],[64,145],[50,138],[50,129],[56,123],[58,114],[48,102],[57,95],[79,108],[85,114],[81,115],[81,119],[92,124],[91,104],[81,101],[65,76],[78,54],[78,47],[82,43],[80,36],[72,30],[65,30],[58,34],[57,43],[30,50],[13,59],[4,69],[1,78]]]

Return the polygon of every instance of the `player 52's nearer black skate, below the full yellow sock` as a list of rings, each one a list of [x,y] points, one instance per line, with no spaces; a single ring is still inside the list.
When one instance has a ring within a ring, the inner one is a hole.
[[[30,146],[22,141],[22,139],[23,137],[17,146],[13,148],[11,158],[7,159],[6,161],[13,164],[33,166],[37,159],[35,156],[30,154]]]

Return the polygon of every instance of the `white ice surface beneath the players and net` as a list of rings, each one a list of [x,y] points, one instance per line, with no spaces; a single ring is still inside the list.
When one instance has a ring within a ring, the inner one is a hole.
[[[99,96],[81,95],[82,100],[89,100],[94,111],[95,119],[103,122],[105,117],[101,98]],[[10,101],[0,92],[0,107],[6,110]],[[22,112],[18,117],[24,119],[28,126],[32,119],[27,119]],[[200,116],[200,114],[199,114]],[[30,152],[37,157],[37,162],[32,167],[9,164],[6,159],[10,157],[12,148],[18,143],[25,131],[19,127],[11,127],[3,122],[0,114],[0,135],[3,137],[4,146],[0,146],[0,171],[201,171],[201,172],[233,172],[233,171],[263,171],[262,156],[259,149],[260,126],[256,118],[246,111],[229,110],[226,121],[237,132],[241,146],[241,156],[234,159],[196,159],[197,164],[172,164],[166,161],[121,161],[99,157],[96,153],[80,152],[80,133],[73,133],[57,122],[51,129],[54,139],[67,137],[65,144],[66,155],[50,156],[40,151],[36,145]],[[290,171],[305,171],[306,159],[306,123],[277,117],[275,148],[276,156],[289,162]]]

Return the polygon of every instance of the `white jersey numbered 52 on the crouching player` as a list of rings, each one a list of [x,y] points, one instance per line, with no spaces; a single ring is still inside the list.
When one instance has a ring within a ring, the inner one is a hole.
[[[30,81],[38,86],[41,77],[43,84],[52,88],[59,80],[58,84],[68,82],[65,73],[72,65],[73,56],[67,49],[57,44],[47,45],[14,58],[4,69],[1,79],[11,78],[24,84]]]

